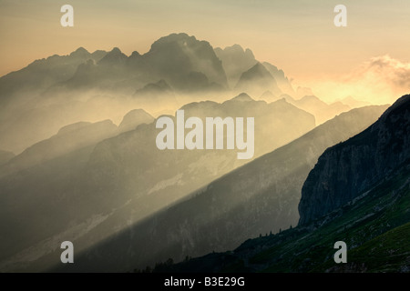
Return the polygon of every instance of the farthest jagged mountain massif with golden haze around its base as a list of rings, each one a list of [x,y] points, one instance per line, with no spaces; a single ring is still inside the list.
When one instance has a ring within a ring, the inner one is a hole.
[[[0,78],[0,149],[19,154],[65,125],[105,119],[118,125],[132,109],[156,117],[192,101],[223,102],[242,92],[255,100],[273,95],[268,102],[282,93],[299,98],[282,70],[240,45],[213,49],[194,36],[173,34],[144,55],[124,55],[117,47],[91,54],[80,47]]]

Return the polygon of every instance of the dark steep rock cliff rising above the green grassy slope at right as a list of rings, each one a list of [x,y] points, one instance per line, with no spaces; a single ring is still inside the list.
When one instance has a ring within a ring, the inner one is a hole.
[[[374,125],[319,157],[302,187],[299,224],[343,206],[409,158],[410,95],[405,95]]]

